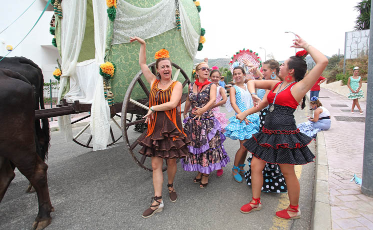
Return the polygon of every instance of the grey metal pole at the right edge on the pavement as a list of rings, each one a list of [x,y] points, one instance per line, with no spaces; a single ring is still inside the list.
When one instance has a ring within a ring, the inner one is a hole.
[[[372,0],[373,1],[373,0]],[[373,21],[373,8],[370,8],[370,21]],[[369,59],[368,59],[368,83],[366,87],[366,112],[364,155],[362,158],[362,185],[361,192],[373,197],[373,26],[369,27]]]

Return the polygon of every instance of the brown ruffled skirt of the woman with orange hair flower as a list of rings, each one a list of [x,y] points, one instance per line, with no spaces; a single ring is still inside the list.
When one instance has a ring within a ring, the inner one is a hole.
[[[176,116],[176,124],[179,130],[182,130],[180,116]],[[147,136],[144,132],[137,141],[142,146],[140,154],[164,159],[185,157],[190,144],[190,140],[177,130],[163,111],[157,112],[153,133]]]

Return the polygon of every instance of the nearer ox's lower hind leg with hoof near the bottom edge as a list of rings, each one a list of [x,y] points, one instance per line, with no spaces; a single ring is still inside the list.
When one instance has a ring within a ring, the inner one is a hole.
[[[48,183],[46,178],[46,170],[48,166],[35,155],[33,159],[25,162],[34,162],[34,167],[31,169],[27,165],[16,165],[19,172],[22,173],[28,181],[31,183],[32,187],[35,188],[37,194],[37,200],[39,204],[39,212],[37,217],[32,224],[32,229],[42,230],[51,223],[50,212],[54,211],[50,203]]]

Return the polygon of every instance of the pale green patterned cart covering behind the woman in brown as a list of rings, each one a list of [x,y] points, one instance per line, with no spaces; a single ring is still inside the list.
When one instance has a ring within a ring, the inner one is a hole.
[[[161,48],[165,48],[169,51],[170,59],[172,62],[179,65],[185,73],[189,74],[193,68],[193,60],[190,58],[186,51],[184,41],[181,37],[181,33],[173,28],[155,37],[151,37],[145,40],[146,42],[146,61],[147,64],[154,62],[154,53]],[[123,102],[126,89],[133,77],[140,71],[138,64],[138,52],[140,45],[135,43],[115,44],[111,45],[109,54],[105,61],[110,61],[116,64],[115,74],[111,80],[111,91],[114,95],[114,103]],[[172,68],[172,75],[176,72],[175,68]],[[142,77],[145,85],[150,86]],[[178,80],[183,82],[184,78],[181,73],[178,76]],[[187,86],[184,87],[184,92],[187,92]],[[135,88],[131,93],[131,98],[134,100],[146,98],[141,87],[136,84]]]

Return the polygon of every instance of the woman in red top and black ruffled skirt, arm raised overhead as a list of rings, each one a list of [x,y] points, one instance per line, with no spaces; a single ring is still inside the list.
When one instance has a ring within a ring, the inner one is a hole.
[[[240,209],[242,213],[250,213],[261,209],[260,190],[263,185],[262,169],[266,163],[278,164],[287,186],[290,204],[287,209],[276,212],[276,217],[284,220],[300,218],[299,192],[300,186],[295,175],[294,165],[313,162],[314,155],[307,145],[311,138],[296,128],[294,111],[307,91],[313,86],[327,65],[327,58],[316,48],[297,38],[291,47],[303,48],[295,56],[285,60],[281,65],[278,77],[281,82],[264,80],[249,81],[248,90],[257,108],[248,109],[236,115],[243,120],[248,114],[255,113],[269,104],[262,131],[252,135],[243,146],[253,155],[251,161],[251,201]],[[307,52],[315,61],[315,66],[304,77],[307,64],[303,59]],[[266,98],[261,101],[255,95],[255,88],[270,89]],[[302,108],[304,108],[304,101]],[[282,179],[281,179],[282,180]]]

